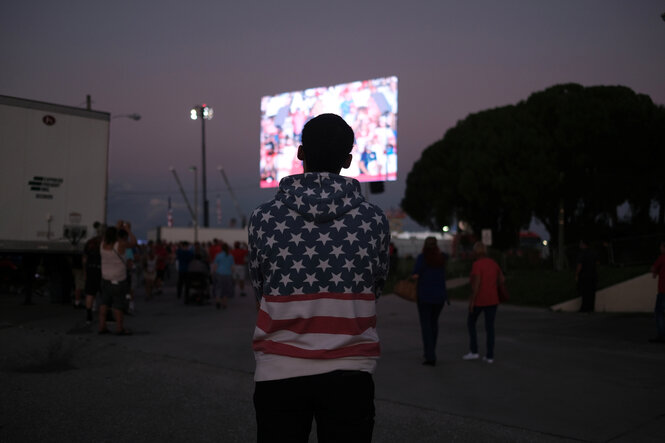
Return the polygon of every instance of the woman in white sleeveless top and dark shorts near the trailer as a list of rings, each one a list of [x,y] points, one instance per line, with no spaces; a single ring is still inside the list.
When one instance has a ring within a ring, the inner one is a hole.
[[[119,238],[118,231],[127,231],[127,239]],[[129,285],[127,281],[127,264],[125,251],[136,245],[136,238],[131,232],[131,225],[119,221],[117,227],[111,226],[104,233],[104,240],[100,248],[102,255],[102,300],[99,308],[99,334],[109,334],[106,327],[108,308],[113,309],[117,335],[131,335],[123,325],[124,313],[127,309],[127,294]]]

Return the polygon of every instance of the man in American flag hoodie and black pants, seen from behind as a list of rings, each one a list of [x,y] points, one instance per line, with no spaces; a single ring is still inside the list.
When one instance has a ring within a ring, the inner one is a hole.
[[[305,125],[298,159],[272,201],[250,218],[250,276],[258,297],[254,406],[258,441],[371,441],[376,300],[390,232],[365,201],[351,164],[354,134],[335,114]]]

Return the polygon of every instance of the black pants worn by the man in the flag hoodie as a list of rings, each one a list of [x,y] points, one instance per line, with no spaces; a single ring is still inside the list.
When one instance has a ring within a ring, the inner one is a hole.
[[[374,429],[374,381],[362,371],[334,371],[257,382],[257,442],[309,440],[316,420],[319,443],[370,442]]]

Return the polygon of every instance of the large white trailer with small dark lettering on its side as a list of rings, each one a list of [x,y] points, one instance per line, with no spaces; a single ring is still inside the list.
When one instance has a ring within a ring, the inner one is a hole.
[[[0,252],[74,252],[106,220],[110,114],[0,95]]]

